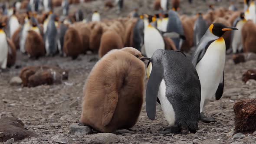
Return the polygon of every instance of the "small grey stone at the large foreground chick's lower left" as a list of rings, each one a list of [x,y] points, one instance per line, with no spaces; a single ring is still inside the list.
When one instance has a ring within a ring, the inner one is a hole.
[[[80,126],[78,124],[71,124],[69,130],[74,135],[92,134],[92,129],[88,126]]]

